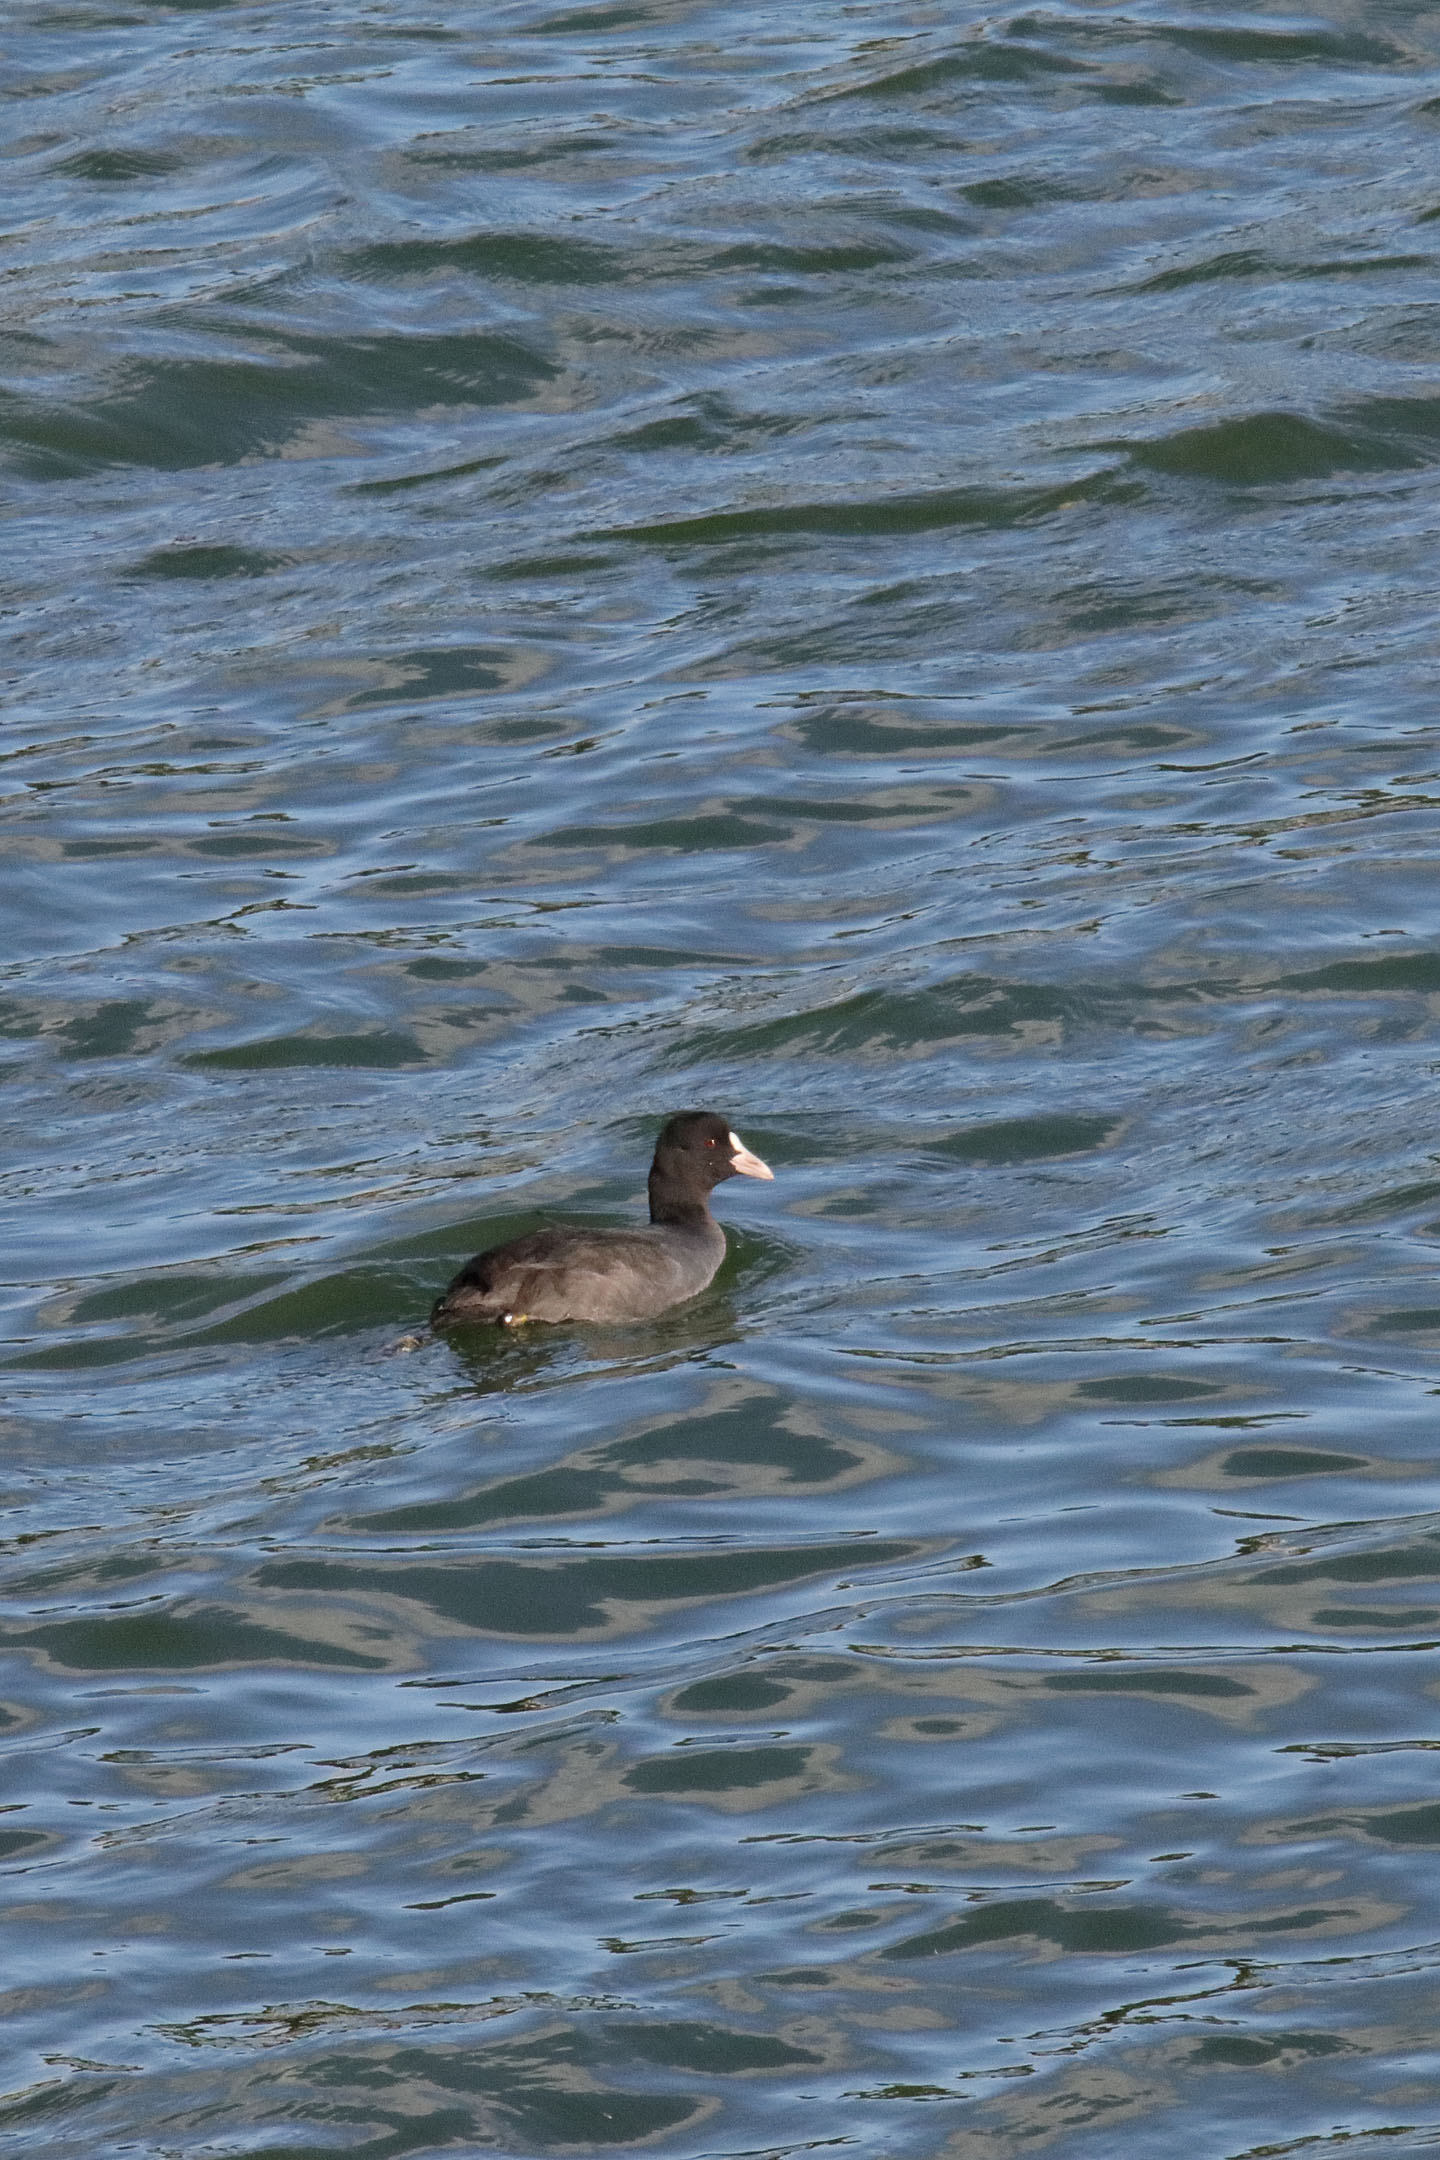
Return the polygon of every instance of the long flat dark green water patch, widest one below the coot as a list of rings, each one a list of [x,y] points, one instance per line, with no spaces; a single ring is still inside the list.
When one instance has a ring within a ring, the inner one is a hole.
[[[915,1560],[918,1542],[855,1540],[836,1547],[751,1547],[741,1553],[665,1553],[585,1560],[466,1560],[449,1566],[363,1566],[341,1560],[279,1560],[257,1570],[268,1590],[378,1592],[425,1607],[436,1620],[484,1635],[594,1635],[639,1605],[691,1605],[749,1596],[840,1572]]]

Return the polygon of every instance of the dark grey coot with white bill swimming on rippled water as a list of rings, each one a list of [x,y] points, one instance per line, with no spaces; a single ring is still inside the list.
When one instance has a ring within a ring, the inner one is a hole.
[[[715,1110],[682,1110],[656,1140],[648,1229],[533,1229],[468,1259],[430,1315],[471,1320],[654,1320],[706,1287],[725,1257],[710,1192],[773,1177]]]

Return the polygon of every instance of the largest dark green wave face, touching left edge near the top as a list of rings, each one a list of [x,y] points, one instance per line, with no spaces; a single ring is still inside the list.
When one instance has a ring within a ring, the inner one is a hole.
[[[6,393],[0,447],[9,445],[30,480],[69,480],[114,464],[235,464],[279,456],[324,421],[520,404],[559,376],[520,339],[479,330],[354,339],[270,333],[263,343],[268,359],[132,361],[112,391],[73,404]]]

